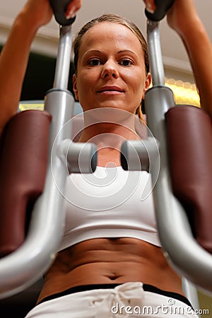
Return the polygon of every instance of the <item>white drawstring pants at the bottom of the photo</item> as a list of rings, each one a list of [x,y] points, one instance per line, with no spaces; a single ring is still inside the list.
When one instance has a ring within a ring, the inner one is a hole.
[[[198,317],[180,300],[143,290],[142,283],[87,290],[40,303],[25,318]]]

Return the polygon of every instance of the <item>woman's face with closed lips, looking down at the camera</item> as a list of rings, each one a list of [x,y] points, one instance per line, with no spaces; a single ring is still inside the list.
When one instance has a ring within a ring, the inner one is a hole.
[[[114,107],[134,114],[151,83],[143,49],[119,23],[98,23],[83,36],[73,90],[83,110]]]

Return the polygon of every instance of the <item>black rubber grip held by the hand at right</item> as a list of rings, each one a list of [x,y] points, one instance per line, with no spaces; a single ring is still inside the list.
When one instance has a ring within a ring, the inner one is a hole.
[[[155,0],[155,12],[150,13],[145,9],[146,17],[152,21],[162,20],[174,2],[175,0]]]

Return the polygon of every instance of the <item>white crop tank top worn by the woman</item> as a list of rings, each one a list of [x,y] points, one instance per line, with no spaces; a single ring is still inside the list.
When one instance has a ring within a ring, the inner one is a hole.
[[[161,246],[148,172],[98,166],[90,175],[69,175],[65,197],[60,250],[100,237],[134,237]]]

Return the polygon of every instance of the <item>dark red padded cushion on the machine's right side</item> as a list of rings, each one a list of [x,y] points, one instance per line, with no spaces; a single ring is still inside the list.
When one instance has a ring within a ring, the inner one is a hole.
[[[198,107],[165,114],[173,193],[184,206],[199,245],[212,253],[212,124]]]

